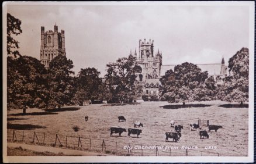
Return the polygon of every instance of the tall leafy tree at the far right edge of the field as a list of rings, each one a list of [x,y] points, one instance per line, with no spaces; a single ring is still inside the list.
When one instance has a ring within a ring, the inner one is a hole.
[[[222,101],[248,101],[249,92],[249,49],[242,48],[229,59],[230,76],[224,79],[218,97]]]

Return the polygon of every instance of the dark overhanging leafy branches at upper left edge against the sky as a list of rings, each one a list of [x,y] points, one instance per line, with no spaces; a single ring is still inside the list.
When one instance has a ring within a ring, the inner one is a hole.
[[[7,13],[7,54],[20,56],[19,51],[19,42],[16,41],[11,34],[19,35],[22,33],[20,28],[21,20],[16,19],[11,14]]]

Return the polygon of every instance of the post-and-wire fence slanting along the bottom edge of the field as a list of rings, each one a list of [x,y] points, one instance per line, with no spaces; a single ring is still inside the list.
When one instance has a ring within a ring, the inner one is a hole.
[[[81,136],[67,136],[63,134],[41,133],[36,131],[9,130],[9,142],[25,142],[29,144],[46,145],[52,147],[79,149],[83,151],[103,152],[112,155],[126,156],[220,156],[217,152],[199,151],[197,149],[173,149],[159,145],[141,145],[127,142],[100,140]],[[162,151],[160,151],[162,150]],[[223,155],[223,154],[222,154]]]

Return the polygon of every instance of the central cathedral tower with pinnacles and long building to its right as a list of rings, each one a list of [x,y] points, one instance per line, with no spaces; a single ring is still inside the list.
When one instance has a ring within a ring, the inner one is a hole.
[[[137,73],[137,81],[143,86],[144,94],[159,94],[161,85],[160,78],[164,76],[167,70],[172,69],[176,65],[162,65],[162,52],[158,51],[154,55],[154,40],[139,41],[139,54],[130,52],[136,58],[137,63],[141,67],[141,73]],[[203,72],[207,71],[208,76],[212,76],[217,84],[223,83],[223,78],[227,76],[227,66],[225,66],[224,58],[221,63],[199,64],[197,65]]]

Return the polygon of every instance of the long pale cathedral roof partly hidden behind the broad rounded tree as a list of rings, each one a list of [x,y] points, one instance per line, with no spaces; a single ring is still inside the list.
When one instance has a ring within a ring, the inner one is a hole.
[[[172,69],[174,70],[174,67],[176,65],[162,65],[161,66],[161,72],[160,72],[160,76],[164,76],[165,72],[167,72],[167,70]],[[218,75],[220,74],[220,70],[222,68],[222,64],[221,63],[214,63],[214,64],[199,64],[197,65],[200,69],[202,69],[203,72],[207,71],[208,75]]]

